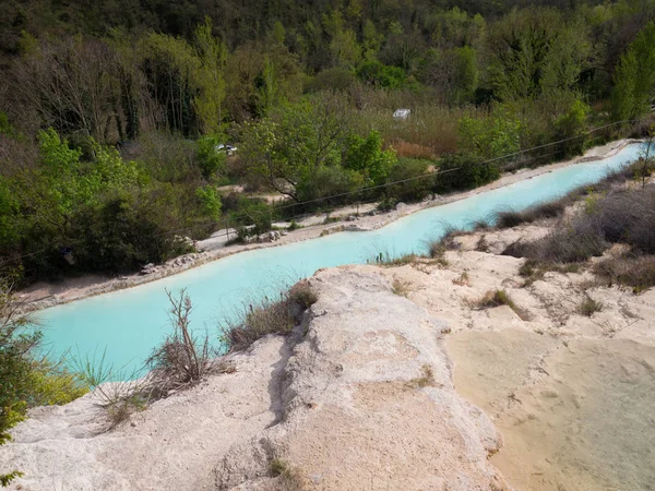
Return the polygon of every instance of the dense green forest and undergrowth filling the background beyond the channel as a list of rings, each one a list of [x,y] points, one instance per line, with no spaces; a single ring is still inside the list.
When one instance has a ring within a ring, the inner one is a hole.
[[[135,271],[226,223],[640,135],[654,19],[654,0],[0,0],[0,273]]]

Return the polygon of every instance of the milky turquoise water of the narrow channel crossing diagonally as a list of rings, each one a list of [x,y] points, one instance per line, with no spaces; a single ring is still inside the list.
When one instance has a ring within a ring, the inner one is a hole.
[[[342,232],[289,246],[242,252],[168,278],[105,294],[38,313],[45,346],[53,354],[71,350],[106,362],[138,369],[169,331],[165,288],[187,288],[193,301],[192,324],[217,333],[217,321],[249,299],[275,296],[284,285],[322,267],[366,263],[380,251],[392,255],[425,252],[426,240],[439,238],[448,225],[468,227],[503,208],[522,209],[600,180],[639,155],[630,145],[598,161],[553,170],[422,212],[369,232]]]

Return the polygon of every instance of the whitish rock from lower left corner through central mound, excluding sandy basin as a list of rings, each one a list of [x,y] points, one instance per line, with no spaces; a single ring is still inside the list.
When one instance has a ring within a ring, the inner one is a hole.
[[[154,403],[105,432],[87,395],[38,408],[0,450],[31,490],[502,489],[499,439],[460,397],[449,326],[373,267],[323,271],[293,335],[230,356],[237,371]],[[55,488],[53,488],[55,487]]]

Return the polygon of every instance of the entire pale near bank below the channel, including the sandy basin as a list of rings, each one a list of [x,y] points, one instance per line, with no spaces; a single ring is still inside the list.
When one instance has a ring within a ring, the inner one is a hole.
[[[655,289],[595,280],[598,258],[527,283],[501,252],[558,219],[318,272],[302,323],[229,355],[236,371],[109,432],[93,394],[37,408],[0,467],[35,491],[648,489]],[[480,304],[500,289],[511,304]]]

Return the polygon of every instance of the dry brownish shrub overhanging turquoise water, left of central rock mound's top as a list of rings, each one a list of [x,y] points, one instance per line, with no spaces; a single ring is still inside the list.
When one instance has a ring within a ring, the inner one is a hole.
[[[307,280],[279,295],[279,300],[265,298],[240,312],[236,322],[221,326],[221,340],[229,351],[240,351],[270,334],[288,334],[302,313],[318,301]]]

